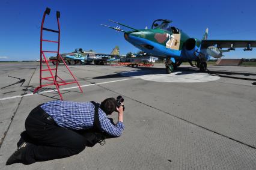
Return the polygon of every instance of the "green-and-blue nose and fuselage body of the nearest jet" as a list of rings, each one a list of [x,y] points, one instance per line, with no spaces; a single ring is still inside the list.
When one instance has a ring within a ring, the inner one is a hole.
[[[176,29],[176,34],[163,29],[141,29],[124,33],[124,38],[133,46],[144,52],[152,53],[159,57],[171,57],[178,61],[197,61],[197,53],[182,52],[184,43],[190,38],[186,33]],[[198,41],[197,41],[198,42]],[[198,48],[200,42],[198,42]],[[209,56],[205,53],[204,60]],[[174,61],[175,62],[175,61]]]

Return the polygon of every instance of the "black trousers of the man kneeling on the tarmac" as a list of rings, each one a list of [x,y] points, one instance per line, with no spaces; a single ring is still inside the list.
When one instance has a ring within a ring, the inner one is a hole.
[[[59,127],[40,106],[34,108],[25,121],[28,137],[25,141],[25,153],[22,154],[23,163],[31,164],[38,161],[69,157],[84,150],[87,140],[74,130]],[[22,135],[21,135],[22,136]]]

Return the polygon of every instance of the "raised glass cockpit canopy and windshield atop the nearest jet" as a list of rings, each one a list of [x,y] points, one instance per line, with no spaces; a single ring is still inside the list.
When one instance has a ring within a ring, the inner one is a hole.
[[[164,29],[166,31],[172,32],[173,34],[179,34],[180,30],[178,28],[175,28],[174,26],[170,26],[169,23],[171,23],[171,20],[167,19],[157,19],[154,20],[151,29]]]

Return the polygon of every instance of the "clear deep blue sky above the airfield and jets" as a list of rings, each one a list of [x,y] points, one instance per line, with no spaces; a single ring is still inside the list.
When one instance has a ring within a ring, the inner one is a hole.
[[[144,29],[155,19],[170,19],[190,37],[201,38],[206,27],[209,39],[256,40],[256,1],[8,1],[0,2],[0,61],[38,59],[40,25],[46,7],[46,27],[56,29],[56,10],[61,12],[60,52],[72,52],[82,47],[110,53],[115,46],[120,53],[138,49],[123,38],[123,34],[100,26],[108,19]],[[122,28],[122,27],[121,27]],[[55,39],[55,34],[47,35]],[[55,46],[54,46],[55,47]],[[256,58],[255,49],[236,49],[226,58]]]

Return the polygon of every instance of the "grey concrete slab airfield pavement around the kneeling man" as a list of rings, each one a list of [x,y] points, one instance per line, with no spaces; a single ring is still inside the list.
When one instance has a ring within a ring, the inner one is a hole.
[[[75,84],[61,87],[64,100],[123,96],[123,135],[72,157],[5,166],[29,112],[59,96],[49,88],[32,95],[38,62],[0,63],[0,169],[256,169],[256,67],[208,68],[181,65],[165,74],[161,64],[72,66],[84,93]],[[58,73],[72,80],[63,65]],[[8,76],[26,81],[11,85],[19,80]]]

